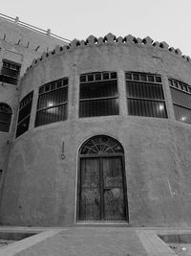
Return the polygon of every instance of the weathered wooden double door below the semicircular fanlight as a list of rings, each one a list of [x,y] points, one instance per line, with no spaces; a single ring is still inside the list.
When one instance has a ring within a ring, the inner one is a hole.
[[[128,221],[122,156],[81,157],[79,221]]]

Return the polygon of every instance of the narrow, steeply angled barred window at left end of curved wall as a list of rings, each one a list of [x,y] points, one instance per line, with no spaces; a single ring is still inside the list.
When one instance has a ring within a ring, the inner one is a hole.
[[[23,98],[23,100],[20,102],[16,137],[20,136],[29,129],[32,110],[32,97],[33,91],[25,96],[25,98]]]

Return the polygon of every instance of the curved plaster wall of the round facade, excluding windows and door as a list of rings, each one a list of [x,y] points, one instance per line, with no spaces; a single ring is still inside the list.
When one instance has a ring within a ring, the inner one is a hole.
[[[167,81],[169,76],[191,84],[190,60],[159,46],[109,41],[56,49],[24,76],[20,97],[34,90],[31,125],[12,142],[2,223],[74,225],[78,149],[106,134],[125,151],[130,224],[190,225],[191,127],[175,121]],[[79,74],[97,71],[117,71],[119,115],[78,118]],[[162,76],[168,119],[128,116],[125,71]],[[69,77],[68,120],[34,128],[38,87],[63,77]]]

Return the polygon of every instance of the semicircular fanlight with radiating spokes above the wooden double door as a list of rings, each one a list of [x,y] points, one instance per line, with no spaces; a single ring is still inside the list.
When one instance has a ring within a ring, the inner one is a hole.
[[[80,148],[79,154],[123,153],[120,143],[106,135],[96,135],[87,140]]]

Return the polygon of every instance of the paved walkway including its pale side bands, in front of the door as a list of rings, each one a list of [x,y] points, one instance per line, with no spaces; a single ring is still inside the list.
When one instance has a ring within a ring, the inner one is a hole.
[[[157,234],[191,233],[191,229],[97,226],[39,231],[44,232],[1,248],[0,256],[176,256]]]

